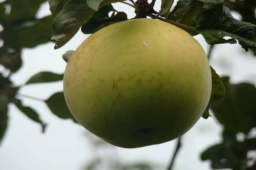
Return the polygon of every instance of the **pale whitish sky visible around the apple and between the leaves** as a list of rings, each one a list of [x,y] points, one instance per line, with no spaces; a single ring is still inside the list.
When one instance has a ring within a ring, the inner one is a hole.
[[[1,1],[1,0],[0,0]],[[160,0],[157,1],[160,6]],[[133,9],[116,3],[118,11],[125,11],[133,17]],[[156,8],[157,9],[157,8]],[[38,17],[50,14],[47,3],[43,4]],[[239,15],[235,14],[239,18]],[[41,34],[41,33],[40,33]],[[15,85],[22,85],[29,77],[40,71],[63,73],[66,63],[61,55],[67,50],[75,50],[86,38],[81,31],[70,42],[58,50],[53,43],[26,48],[22,51],[23,65],[11,79]],[[205,51],[209,46],[201,36],[196,39]],[[245,53],[239,45],[216,45],[210,64],[220,75],[230,75],[231,81],[251,81],[256,84],[256,58]],[[0,71],[4,71],[0,67]],[[28,85],[20,89],[20,94],[47,99],[57,91],[62,91],[62,82]],[[9,125],[0,145],[0,170],[82,170],[83,166],[97,155],[107,159],[117,154],[125,163],[149,161],[163,166],[169,164],[176,140],[137,149],[108,147],[95,150],[83,127],[71,120],[59,119],[51,113],[43,102],[20,97],[25,105],[34,108],[41,119],[48,124],[45,133],[41,127],[28,119],[14,105],[9,105]],[[209,161],[201,161],[200,153],[211,144],[221,141],[221,125],[214,118],[200,119],[182,139],[173,170],[210,170]],[[113,159],[115,157],[113,156]],[[102,170],[105,170],[102,167]]]

